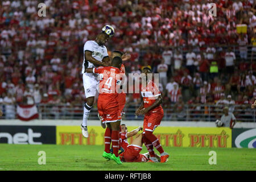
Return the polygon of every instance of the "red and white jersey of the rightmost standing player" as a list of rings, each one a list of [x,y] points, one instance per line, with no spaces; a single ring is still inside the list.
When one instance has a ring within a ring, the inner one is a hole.
[[[161,93],[159,92],[159,89],[156,87],[154,82],[148,81],[146,88],[141,89],[141,95],[143,97],[143,102],[144,102],[144,108],[151,106],[154,104],[155,97],[160,96]],[[155,113],[155,111],[163,110],[162,106],[159,105],[155,107],[154,109],[150,110],[148,113]]]

